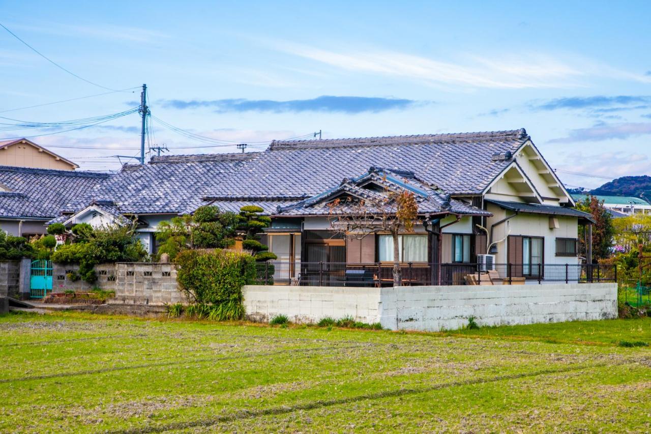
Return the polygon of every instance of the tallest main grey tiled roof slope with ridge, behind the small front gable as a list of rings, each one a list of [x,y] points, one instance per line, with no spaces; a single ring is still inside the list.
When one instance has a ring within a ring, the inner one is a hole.
[[[370,166],[415,172],[453,195],[480,194],[509,164],[529,136],[525,130],[273,141],[212,195],[318,194]],[[505,158],[494,158],[503,154]]]

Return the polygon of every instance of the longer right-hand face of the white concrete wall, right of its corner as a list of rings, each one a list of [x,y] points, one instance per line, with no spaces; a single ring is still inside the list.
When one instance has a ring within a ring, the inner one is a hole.
[[[589,321],[617,317],[616,283],[422,286],[383,289],[383,326],[456,330],[480,326]],[[392,293],[393,292],[393,293]]]

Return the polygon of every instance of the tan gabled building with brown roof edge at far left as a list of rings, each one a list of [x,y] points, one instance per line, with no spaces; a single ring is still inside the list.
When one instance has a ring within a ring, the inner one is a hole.
[[[74,170],[77,164],[28,139],[0,141],[0,166]]]

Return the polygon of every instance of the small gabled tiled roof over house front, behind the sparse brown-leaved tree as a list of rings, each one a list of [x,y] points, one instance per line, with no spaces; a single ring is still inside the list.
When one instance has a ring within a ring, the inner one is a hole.
[[[355,206],[346,201],[338,207],[331,204],[338,197],[357,197],[366,201],[367,212],[381,212],[378,205],[383,205],[389,192],[410,192],[414,195],[419,214],[466,214],[475,216],[491,216],[488,211],[473,207],[456,199],[450,199],[436,187],[432,187],[413,172],[370,167],[366,173],[353,179],[344,179],[334,188],[321,194],[314,195],[288,206],[279,206],[276,214],[279,216],[323,216],[331,214],[347,214],[355,212]]]

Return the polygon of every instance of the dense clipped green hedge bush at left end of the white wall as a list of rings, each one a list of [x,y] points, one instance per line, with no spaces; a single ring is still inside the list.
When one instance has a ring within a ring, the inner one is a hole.
[[[227,250],[185,250],[178,253],[176,280],[188,300],[212,305],[214,319],[241,319],[242,286],[256,276],[255,259],[242,252]]]

